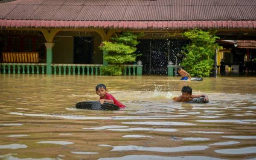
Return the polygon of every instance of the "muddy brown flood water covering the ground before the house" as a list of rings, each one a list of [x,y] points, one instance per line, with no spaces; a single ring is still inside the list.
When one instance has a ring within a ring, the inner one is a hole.
[[[0,159],[256,160],[256,77],[178,78],[0,74]],[[76,109],[98,83],[128,108]]]

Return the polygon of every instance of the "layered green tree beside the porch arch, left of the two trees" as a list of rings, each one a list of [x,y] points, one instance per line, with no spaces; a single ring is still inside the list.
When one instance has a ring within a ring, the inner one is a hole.
[[[121,64],[127,62],[134,62],[138,56],[135,51],[136,46],[139,44],[137,37],[139,35],[131,32],[122,32],[120,35],[111,38],[110,41],[103,41],[102,50],[108,52],[108,55],[104,55],[105,61],[108,62],[108,66],[101,67],[102,74],[105,75],[122,75],[123,68]]]

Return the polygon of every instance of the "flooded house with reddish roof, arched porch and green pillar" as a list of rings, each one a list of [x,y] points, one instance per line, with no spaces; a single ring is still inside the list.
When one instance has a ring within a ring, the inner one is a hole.
[[[195,28],[221,38],[217,66],[222,58],[255,66],[255,0],[1,0],[0,71],[97,75],[107,54],[102,41],[130,31],[143,32],[137,46],[143,74],[164,75],[189,43],[180,33]],[[253,45],[236,49],[226,40]],[[124,75],[142,74],[136,62],[126,67]]]

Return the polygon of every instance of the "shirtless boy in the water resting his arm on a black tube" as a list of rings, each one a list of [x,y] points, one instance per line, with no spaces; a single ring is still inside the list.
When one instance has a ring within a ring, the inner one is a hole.
[[[183,86],[181,89],[182,95],[178,97],[174,97],[174,102],[189,102],[194,98],[199,98],[199,97],[204,97],[204,101],[207,102],[208,96],[206,94],[201,94],[201,95],[193,95],[192,94],[192,88],[189,86]]]

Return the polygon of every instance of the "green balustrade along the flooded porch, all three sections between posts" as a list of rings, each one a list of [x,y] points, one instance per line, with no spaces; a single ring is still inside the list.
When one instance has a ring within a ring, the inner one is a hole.
[[[45,74],[46,63],[0,63],[0,73]],[[101,75],[102,64],[52,64],[54,75]],[[122,65],[123,75],[142,75],[142,65]]]

